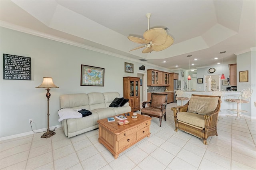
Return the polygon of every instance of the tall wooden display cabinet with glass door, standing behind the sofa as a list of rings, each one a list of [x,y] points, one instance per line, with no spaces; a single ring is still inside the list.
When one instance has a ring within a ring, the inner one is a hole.
[[[132,112],[140,110],[140,77],[123,77],[124,98],[129,99]]]

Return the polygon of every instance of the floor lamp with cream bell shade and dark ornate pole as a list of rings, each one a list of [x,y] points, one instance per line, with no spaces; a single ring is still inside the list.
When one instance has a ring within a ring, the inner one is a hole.
[[[47,132],[45,132],[44,134],[42,134],[41,138],[50,138],[52,135],[55,134],[55,132],[53,130],[50,130],[49,128],[49,101],[50,101],[50,97],[51,97],[51,93],[50,93],[50,88],[59,88],[57,87],[53,81],[52,81],[52,77],[44,77],[43,79],[43,83],[41,85],[39,85],[36,88],[46,88],[47,93],[46,93],[46,97],[47,97]]]

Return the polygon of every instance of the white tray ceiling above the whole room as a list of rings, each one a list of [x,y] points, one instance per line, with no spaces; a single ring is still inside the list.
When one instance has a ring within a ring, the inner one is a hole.
[[[224,64],[236,63],[235,54],[256,47],[255,0],[1,0],[0,11],[3,27],[169,69],[188,69],[187,55],[195,64],[190,69],[222,63],[222,57]],[[159,52],[129,52],[140,44],[127,36],[143,38],[147,13],[152,14],[150,28],[167,27],[174,43]]]

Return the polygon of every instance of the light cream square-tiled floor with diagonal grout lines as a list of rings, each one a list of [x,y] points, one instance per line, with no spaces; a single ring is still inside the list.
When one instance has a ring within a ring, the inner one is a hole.
[[[41,170],[251,170],[256,169],[256,120],[221,117],[218,136],[202,140],[174,131],[176,103],[168,104],[167,121],[153,118],[151,135],[117,160],[98,142],[98,129],[67,138],[62,128],[51,138],[42,133],[0,142],[0,169]],[[139,113],[139,112],[137,112]]]

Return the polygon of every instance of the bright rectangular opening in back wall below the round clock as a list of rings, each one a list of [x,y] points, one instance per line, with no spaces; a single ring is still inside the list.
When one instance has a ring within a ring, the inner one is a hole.
[[[204,75],[204,91],[211,91],[213,89],[220,89],[220,74]]]

